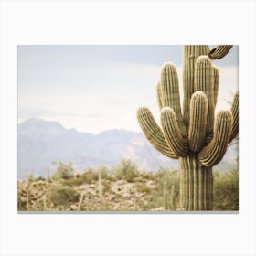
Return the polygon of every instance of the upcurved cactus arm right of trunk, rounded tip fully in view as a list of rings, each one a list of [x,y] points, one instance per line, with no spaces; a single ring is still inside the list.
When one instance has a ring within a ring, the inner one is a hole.
[[[232,123],[233,117],[231,112],[220,111],[218,113],[213,138],[198,155],[198,159],[202,165],[216,165],[222,159],[229,144]]]

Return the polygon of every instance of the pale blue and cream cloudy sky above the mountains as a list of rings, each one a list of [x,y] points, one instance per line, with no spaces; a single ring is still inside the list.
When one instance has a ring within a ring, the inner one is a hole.
[[[211,46],[212,48],[212,46]],[[219,67],[219,109],[238,90],[238,47]],[[18,122],[58,121],[80,132],[140,132],[136,110],[147,106],[159,120],[155,86],[171,61],[183,97],[181,46],[18,46]]]

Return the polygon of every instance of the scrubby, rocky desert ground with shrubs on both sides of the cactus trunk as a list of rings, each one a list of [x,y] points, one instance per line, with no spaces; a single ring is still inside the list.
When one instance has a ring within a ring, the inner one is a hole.
[[[213,210],[239,209],[237,169],[213,172]],[[17,181],[19,211],[179,211],[179,173],[139,170],[123,159],[112,168],[75,171],[72,162],[46,168],[46,176]]]

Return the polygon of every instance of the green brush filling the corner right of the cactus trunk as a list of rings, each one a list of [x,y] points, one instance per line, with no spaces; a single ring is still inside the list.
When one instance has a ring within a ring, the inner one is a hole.
[[[239,209],[239,171],[214,172],[213,210]]]

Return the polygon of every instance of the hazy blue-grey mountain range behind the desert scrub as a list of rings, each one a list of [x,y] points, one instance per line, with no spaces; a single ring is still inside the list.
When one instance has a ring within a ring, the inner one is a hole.
[[[157,152],[143,133],[109,130],[99,134],[65,129],[58,122],[28,119],[18,124],[18,176],[29,173],[45,176],[53,161],[73,161],[77,170],[100,165],[117,165],[122,158],[133,160],[140,169],[175,168],[177,160]],[[227,152],[222,165],[234,163],[234,148]]]

